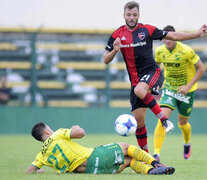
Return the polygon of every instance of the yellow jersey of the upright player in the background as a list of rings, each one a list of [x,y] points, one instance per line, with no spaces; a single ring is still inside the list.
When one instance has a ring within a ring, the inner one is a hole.
[[[195,76],[195,64],[200,57],[194,50],[186,44],[176,42],[173,50],[168,50],[165,45],[155,49],[155,60],[158,64],[164,65],[164,87],[172,90],[180,86],[187,85]],[[192,86],[189,92],[198,88],[197,82]]]

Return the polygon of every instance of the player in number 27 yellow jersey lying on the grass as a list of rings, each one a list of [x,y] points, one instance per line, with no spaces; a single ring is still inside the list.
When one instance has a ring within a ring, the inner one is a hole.
[[[126,143],[113,143],[86,148],[71,139],[82,138],[85,131],[79,126],[53,131],[39,122],[32,128],[32,136],[42,141],[42,149],[37,154],[27,173],[44,172],[43,165],[58,173],[113,174],[131,167],[142,174],[173,174],[175,168],[157,162],[150,154]]]

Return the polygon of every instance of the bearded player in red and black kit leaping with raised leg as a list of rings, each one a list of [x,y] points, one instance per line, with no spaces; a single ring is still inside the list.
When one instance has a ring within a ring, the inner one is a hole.
[[[163,84],[163,74],[153,58],[153,40],[188,40],[204,36],[207,26],[203,25],[197,32],[166,32],[151,25],[138,23],[139,4],[130,1],[124,6],[126,25],[113,32],[109,38],[104,54],[104,62],[110,63],[121,50],[131,81],[131,110],[137,120],[136,138],[139,146],[148,152],[145,114],[147,108],[161,120],[166,132],[174,125],[166,118],[152,94],[157,95]]]

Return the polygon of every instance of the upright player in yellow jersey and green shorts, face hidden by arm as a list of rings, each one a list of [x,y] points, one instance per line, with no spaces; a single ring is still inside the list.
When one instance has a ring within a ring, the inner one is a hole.
[[[164,31],[175,32],[168,25]],[[164,89],[160,107],[167,118],[174,109],[178,109],[178,126],[184,138],[184,158],[191,155],[191,125],[188,122],[197,89],[197,81],[205,73],[205,66],[193,49],[181,42],[164,39],[164,45],[155,50],[157,63],[164,65]],[[165,130],[158,120],[154,132],[154,158],[159,161]]]

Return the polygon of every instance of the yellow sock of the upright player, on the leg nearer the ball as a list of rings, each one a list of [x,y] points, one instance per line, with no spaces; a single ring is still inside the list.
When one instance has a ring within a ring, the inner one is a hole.
[[[154,154],[160,154],[162,143],[165,139],[165,129],[158,119],[157,126],[154,132]]]

